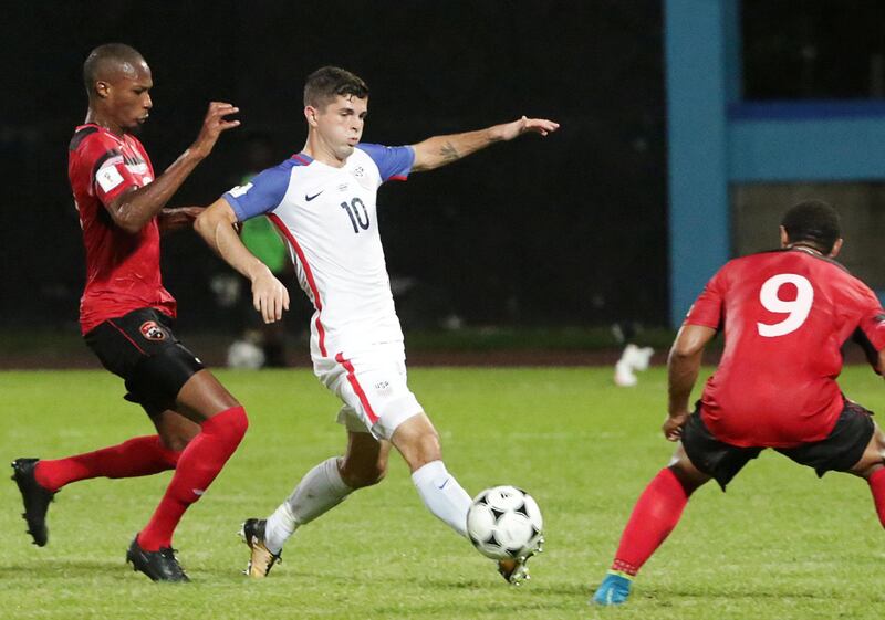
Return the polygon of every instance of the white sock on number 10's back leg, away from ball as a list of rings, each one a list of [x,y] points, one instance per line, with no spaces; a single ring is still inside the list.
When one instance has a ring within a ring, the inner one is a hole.
[[[300,525],[341,504],[353,488],[344,484],[336,456],[326,459],[301,479],[292,494],[268,517],[264,545],[279,554]]]

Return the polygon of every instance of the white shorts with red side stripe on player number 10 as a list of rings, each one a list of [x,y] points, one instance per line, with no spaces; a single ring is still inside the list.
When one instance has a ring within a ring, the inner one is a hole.
[[[399,424],[424,411],[408,389],[402,345],[315,358],[313,371],[344,402],[337,421],[351,432],[389,440]]]

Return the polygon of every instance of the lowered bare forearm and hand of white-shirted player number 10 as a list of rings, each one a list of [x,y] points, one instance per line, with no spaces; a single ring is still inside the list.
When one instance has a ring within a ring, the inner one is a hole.
[[[226,263],[249,279],[252,283],[252,306],[264,323],[280,320],[283,311],[289,309],[289,291],[243,245],[233,228],[236,223],[233,209],[227,200],[219,198],[197,217],[194,229]]]

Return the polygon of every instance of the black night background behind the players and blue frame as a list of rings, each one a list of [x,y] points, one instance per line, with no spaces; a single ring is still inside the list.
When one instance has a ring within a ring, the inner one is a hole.
[[[875,3],[847,17],[833,13],[841,3],[799,4],[745,2],[754,38],[745,91],[854,96],[864,76],[837,71],[840,54],[881,42],[826,24],[835,14],[840,28],[863,29]],[[242,108],[242,127],[170,206],[207,204],[235,185],[254,133],[271,137],[278,159],[298,151],[303,80],[323,64],[368,82],[366,141],[408,144],[521,114],[560,122],[546,139],[496,146],[381,190],[389,272],[410,284],[398,300],[406,327],[451,315],[467,325],[667,325],[662,20],[656,0],[21,3],[8,15],[2,56],[0,320],[76,329],[83,255],[66,145],[86,109],[85,55],[122,41],[154,71],[142,139],[157,172],[196,137],[209,99]],[[801,53],[809,41],[822,42],[811,76]],[[164,276],[183,327],[228,327],[209,286],[222,271],[192,233],[165,239]]]

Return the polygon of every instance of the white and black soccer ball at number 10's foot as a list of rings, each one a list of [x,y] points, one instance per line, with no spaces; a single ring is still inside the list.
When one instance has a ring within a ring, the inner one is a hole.
[[[516,486],[493,486],[476,496],[467,512],[467,535],[492,559],[518,558],[533,551],[544,519],[534,498]]]

